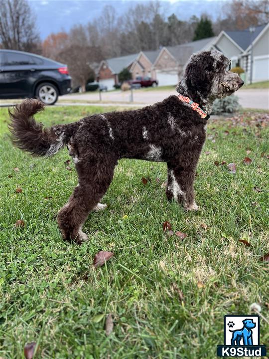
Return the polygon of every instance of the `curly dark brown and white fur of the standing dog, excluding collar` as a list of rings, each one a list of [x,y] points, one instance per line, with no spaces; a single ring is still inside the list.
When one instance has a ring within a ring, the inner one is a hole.
[[[244,83],[226,71],[229,60],[218,51],[192,55],[177,91],[210,113],[216,98],[229,96]],[[225,85],[224,85],[225,84]],[[110,112],[78,122],[42,129],[33,114],[42,110],[36,100],[26,100],[10,113],[15,144],[38,156],[50,156],[67,144],[79,183],[58,214],[64,239],[87,239],[82,225],[89,212],[102,207],[119,159],[167,163],[168,200],[196,210],[193,182],[206,138],[206,120],[177,96],[139,110]]]

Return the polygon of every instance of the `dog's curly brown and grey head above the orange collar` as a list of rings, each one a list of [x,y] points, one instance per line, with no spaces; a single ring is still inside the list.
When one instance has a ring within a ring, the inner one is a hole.
[[[237,73],[228,70],[229,64],[230,60],[220,51],[194,53],[186,66],[183,80],[176,88],[177,92],[186,92],[197,102],[232,95],[244,85],[244,81]]]

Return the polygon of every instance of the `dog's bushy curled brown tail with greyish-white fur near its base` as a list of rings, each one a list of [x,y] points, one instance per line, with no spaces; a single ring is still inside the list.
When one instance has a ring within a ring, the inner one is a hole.
[[[52,156],[56,154],[72,136],[72,125],[57,125],[43,129],[41,123],[35,122],[33,115],[44,110],[44,104],[38,100],[27,99],[8,110],[11,123],[9,130],[12,142],[19,149],[35,156]]]

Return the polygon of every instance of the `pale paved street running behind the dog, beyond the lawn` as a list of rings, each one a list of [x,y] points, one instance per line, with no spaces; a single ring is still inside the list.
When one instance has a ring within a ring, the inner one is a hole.
[[[151,105],[155,102],[162,101],[164,98],[176,94],[175,91],[170,90],[134,90],[134,103],[141,105]],[[269,109],[269,90],[244,90],[237,91],[236,95],[239,97],[239,102],[244,108],[257,108],[257,109]],[[102,92],[102,101],[110,104],[114,103],[130,103],[130,91],[112,91]],[[87,92],[84,94],[70,94],[60,97],[60,102],[73,102],[73,101],[91,101],[99,102],[99,93]]]

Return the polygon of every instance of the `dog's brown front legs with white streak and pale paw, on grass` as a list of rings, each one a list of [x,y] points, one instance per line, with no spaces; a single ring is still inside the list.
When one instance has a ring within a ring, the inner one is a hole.
[[[166,196],[168,200],[174,198],[182,204],[186,210],[197,210],[198,206],[194,200],[194,177],[195,167],[175,166],[167,163],[167,186]]]

